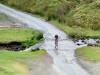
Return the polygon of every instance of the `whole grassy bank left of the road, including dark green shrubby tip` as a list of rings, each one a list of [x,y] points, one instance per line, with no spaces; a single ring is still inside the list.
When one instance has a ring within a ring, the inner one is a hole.
[[[43,40],[43,34],[26,28],[0,28],[0,43],[20,42],[21,49],[32,46]]]

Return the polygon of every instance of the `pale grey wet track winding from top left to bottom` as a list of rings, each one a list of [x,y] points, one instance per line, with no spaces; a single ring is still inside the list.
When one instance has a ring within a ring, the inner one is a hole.
[[[78,46],[68,39],[63,31],[52,24],[49,24],[45,20],[17,11],[2,4],[0,4],[0,12],[26,24],[29,28],[35,28],[44,33],[45,41],[40,48],[47,50],[48,54],[53,59],[54,68],[61,71],[60,75],[89,75],[89,73],[77,63],[74,56],[75,49],[78,48]],[[60,37],[58,50],[55,50],[54,45],[54,36],[56,34]]]

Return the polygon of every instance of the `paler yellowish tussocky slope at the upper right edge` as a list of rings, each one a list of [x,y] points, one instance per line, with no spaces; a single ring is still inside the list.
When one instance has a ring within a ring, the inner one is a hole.
[[[70,12],[73,24],[92,30],[100,30],[100,0],[89,4],[78,5]]]

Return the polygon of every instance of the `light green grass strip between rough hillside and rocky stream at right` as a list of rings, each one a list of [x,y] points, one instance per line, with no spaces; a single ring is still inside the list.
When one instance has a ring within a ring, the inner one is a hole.
[[[100,30],[94,31],[79,26],[70,27],[67,24],[61,24],[56,20],[52,20],[50,22],[59,27],[60,29],[64,30],[64,32],[67,33],[69,37],[72,39],[79,37],[94,38],[94,39],[100,38]]]

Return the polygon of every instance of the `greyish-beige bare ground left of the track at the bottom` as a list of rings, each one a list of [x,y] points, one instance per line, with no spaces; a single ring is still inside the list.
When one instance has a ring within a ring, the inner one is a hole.
[[[17,59],[20,63],[25,63],[29,70],[29,75],[60,75],[55,71],[52,58],[46,53],[36,58]],[[59,71],[58,69],[56,69]]]

